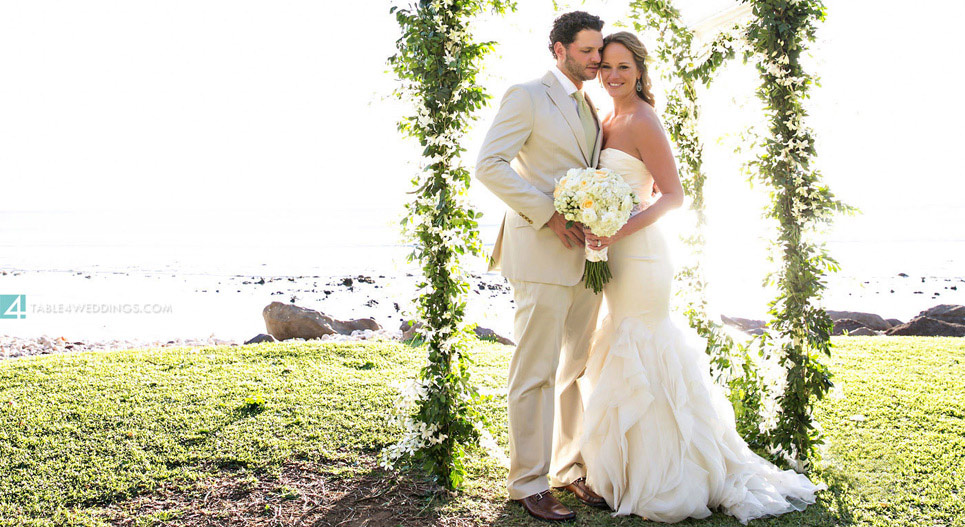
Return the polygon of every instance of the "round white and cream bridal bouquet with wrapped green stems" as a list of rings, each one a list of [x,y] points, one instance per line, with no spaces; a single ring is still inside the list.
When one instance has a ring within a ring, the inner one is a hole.
[[[630,219],[640,198],[616,172],[607,168],[571,168],[556,182],[553,205],[566,218],[585,225],[597,236],[613,236]],[[594,293],[603,290],[612,275],[606,264],[607,249],[586,248],[583,282]]]

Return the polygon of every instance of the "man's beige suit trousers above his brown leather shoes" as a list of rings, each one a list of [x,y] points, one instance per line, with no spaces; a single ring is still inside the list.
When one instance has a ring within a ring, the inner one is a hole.
[[[579,441],[586,366],[603,295],[574,286],[510,280],[516,351],[509,364],[510,499],[586,475]],[[547,476],[549,481],[547,482]]]

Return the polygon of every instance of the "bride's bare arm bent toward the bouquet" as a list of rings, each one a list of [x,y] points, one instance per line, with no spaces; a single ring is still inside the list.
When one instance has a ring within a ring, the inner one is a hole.
[[[591,247],[598,240],[601,242],[600,248],[612,245],[617,240],[656,222],[667,211],[680,207],[684,202],[684,190],[680,185],[680,177],[677,176],[677,165],[673,159],[667,134],[656,112],[649,107],[648,110],[634,119],[631,133],[640,158],[647,165],[647,170],[650,171],[654,183],[660,188],[662,194],[652,205],[630,218],[630,221],[613,236],[600,238],[587,233],[587,244]],[[643,200],[648,196],[639,197]]]

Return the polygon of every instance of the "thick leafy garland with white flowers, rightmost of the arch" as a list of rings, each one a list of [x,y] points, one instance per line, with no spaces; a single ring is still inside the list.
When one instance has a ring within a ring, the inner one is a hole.
[[[821,0],[742,0],[751,5],[749,49],[761,76],[757,96],[764,102],[769,134],[749,163],[771,194],[766,217],[777,223],[772,259],[780,265],[769,275],[778,296],[769,304],[772,334],[765,338],[768,358],[786,372],[777,396],[780,411],[763,416],[772,456],[799,471],[807,470],[823,443],[813,419],[814,404],[832,387],[820,358],[831,355],[830,317],[819,305],[825,273],[836,271],[823,244],[822,227],[835,213],[853,209],[836,200],[811,167],[814,134],[804,124],[804,103],[814,78],[801,66],[801,54],[814,41],[825,18]]]

